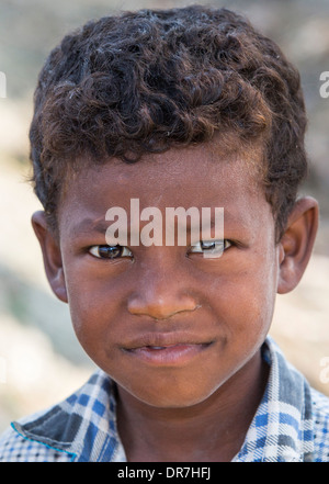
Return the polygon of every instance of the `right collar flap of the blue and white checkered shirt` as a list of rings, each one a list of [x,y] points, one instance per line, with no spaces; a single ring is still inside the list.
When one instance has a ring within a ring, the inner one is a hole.
[[[265,393],[236,462],[306,462],[313,460],[310,387],[269,337],[262,347],[270,364]]]

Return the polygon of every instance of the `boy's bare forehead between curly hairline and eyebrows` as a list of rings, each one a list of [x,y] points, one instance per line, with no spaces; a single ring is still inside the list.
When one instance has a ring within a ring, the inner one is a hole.
[[[152,198],[170,193],[173,201],[192,195],[195,201],[235,189],[260,192],[261,157],[258,149],[225,153],[220,145],[207,143],[186,148],[172,148],[162,154],[147,154],[134,164],[112,158],[104,165],[81,160],[83,169],[70,183],[70,192],[87,199],[104,193],[107,196]],[[180,190],[178,190],[180,188]],[[182,190],[183,188],[183,190]],[[104,190],[103,190],[104,189]],[[150,201],[150,200],[149,200]]]

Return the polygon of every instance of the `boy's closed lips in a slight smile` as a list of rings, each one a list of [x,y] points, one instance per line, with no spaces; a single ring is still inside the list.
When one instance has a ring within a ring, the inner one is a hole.
[[[195,338],[178,334],[145,335],[131,347],[122,348],[133,358],[154,365],[182,365],[201,356],[213,341],[196,342]]]

